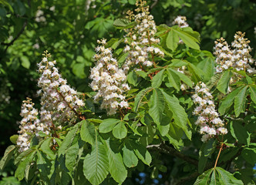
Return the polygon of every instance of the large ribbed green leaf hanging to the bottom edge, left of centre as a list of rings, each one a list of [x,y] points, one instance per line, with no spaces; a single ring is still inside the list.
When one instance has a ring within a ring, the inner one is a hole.
[[[106,147],[97,139],[91,154],[87,154],[83,161],[83,173],[93,185],[102,183],[109,173],[109,159],[106,155]]]

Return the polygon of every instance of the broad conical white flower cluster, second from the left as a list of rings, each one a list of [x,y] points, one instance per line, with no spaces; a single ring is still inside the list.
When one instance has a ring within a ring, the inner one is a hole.
[[[62,124],[75,116],[79,116],[79,108],[85,106],[82,99],[79,99],[76,90],[72,89],[66,79],[62,79],[56,61],[48,61],[49,54],[39,62],[39,95],[41,95],[41,122],[51,126],[52,121]]]

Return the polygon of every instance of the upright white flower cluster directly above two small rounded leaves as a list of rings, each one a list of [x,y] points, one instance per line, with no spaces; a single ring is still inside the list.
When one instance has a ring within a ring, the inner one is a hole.
[[[93,91],[97,91],[94,99],[99,101],[103,99],[101,109],[106,109],[109,115],[115,114],[120,108],[127,108],[129,104],[125,101],[122,93],[129,90],[130,87],[125,83],[126,74],[123,69],[118,68],[116,59],[113,58],[110,48],[106,48],[106,39],[97,41],[96,47],[96,66],[91,69],[90,84]]]

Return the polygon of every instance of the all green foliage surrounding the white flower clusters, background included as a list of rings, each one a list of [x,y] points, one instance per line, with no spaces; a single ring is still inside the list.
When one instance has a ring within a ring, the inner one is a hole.
[[[9,103],[0,99],[2,176],[15,175],[25,184],[136,184],[143,172],[145,184],[152,179],[169,184],[254,184],[255,75],[235,69],[216,74],[211,52],[215,39],[222,36],[231,43],[237,31],[246,32],[256,48],[256,4],[248,0],[148,1],[159,25],[157,47],[165,56],[155,58],[157,66],[130,70],[131,90],[126,93],[130,109],[107,116],[100,103],[93,102],[95,93],[89,87],[94,47],[97,39],[106,38],[120,66],[125,62],[123,28],[134,25],[118,18],[125,18],[135,2],[0,0],[0,93],[10,96]],[[186,15],[193,29],[172,25],[177,15]],[[45,49],[57,60],[62,76],[85,95],[86,119],[64,126],[59,138],[41,133],[43,140],[34,138],[29,150],[18,153],[8,138],[19,129],[22,100],[32,97],[39,107],[36,63]],[[255,53],[254,49],[251,55]],[[185,74],[177,71],[181,66],[187,67]],[[241,80],[230,84],[237,73]],[[193,87],[200,81],[211,89],[228,130],[224,138],[206,143],[200,141],[194,124],[197,116],[192,114]],[[183,83],[190,88],[180,90]],[[12,169],[9,160],[17,168]],[[0,184],[8,180],[19,184],[12,178],[5,177]]]

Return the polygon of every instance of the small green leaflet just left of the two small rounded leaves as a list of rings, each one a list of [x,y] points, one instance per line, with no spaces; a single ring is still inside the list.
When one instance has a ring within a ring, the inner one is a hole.
[[[95,143],[95,126],[93,123],[88,122],[87,120],[82,121],[80,136],[83,141],[94,145]]]

